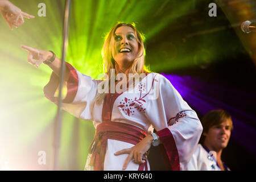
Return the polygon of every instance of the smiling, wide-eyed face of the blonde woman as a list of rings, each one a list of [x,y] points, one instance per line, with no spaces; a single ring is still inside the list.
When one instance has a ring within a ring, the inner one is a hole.
[[[113,39],[112,55],[115,62],[118,65],[132,63],[137,57],[139,49],[133,28],[129,26],[118,27]]]

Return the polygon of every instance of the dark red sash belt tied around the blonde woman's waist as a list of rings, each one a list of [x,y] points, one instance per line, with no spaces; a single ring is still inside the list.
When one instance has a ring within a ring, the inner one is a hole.
[[[90,146],[89,153],[92,154],[90,159],[90,166],[93,170],[103,171],[104,160],[106,154],[106,144],[108,139],[119,140],[131,144],[139,143],[144,137],[146,132],[139,127],[119,122],[102,122],[96,128],[93,142]],[[139,165],[139,171],[147,171],[147,162]]]

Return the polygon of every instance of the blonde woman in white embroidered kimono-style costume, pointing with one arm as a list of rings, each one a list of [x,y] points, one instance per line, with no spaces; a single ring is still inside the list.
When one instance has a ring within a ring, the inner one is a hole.
[[[52,69],[44,93],[56,104],[60,59],[53,52],[22,48],[29,51],[29,63],[45,63]],[[185,169],[203,128],[170,81],[144,69],[143,36],[133,24],[112,28],[102,58],[105,80],[92,79],[65,63],[63,109],[93,121],[96,128],[85,169],[150,170],[147,151],[159,143],[168,169]]]

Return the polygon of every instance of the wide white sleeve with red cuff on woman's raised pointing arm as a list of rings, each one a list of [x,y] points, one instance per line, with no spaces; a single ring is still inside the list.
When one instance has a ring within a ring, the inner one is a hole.
[[[98,81],[83,75],[71,64],[67,62],[65,64],[69,71],[69,78],[63,87],[62,107],[77,118],[93,120],[92,101],[96,96]],[[52,72],[48,84],[44,86],[44,96],[54,104],[57,104],[58,100],[59,81],[59,76]]]

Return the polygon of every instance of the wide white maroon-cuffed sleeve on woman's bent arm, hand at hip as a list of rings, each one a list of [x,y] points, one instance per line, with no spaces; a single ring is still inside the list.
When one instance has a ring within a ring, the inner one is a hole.
[[[197,114],[171,82],[157,74],[146,115],[159,135],[167,168],[185,170],[199,142],[203,127]]]

